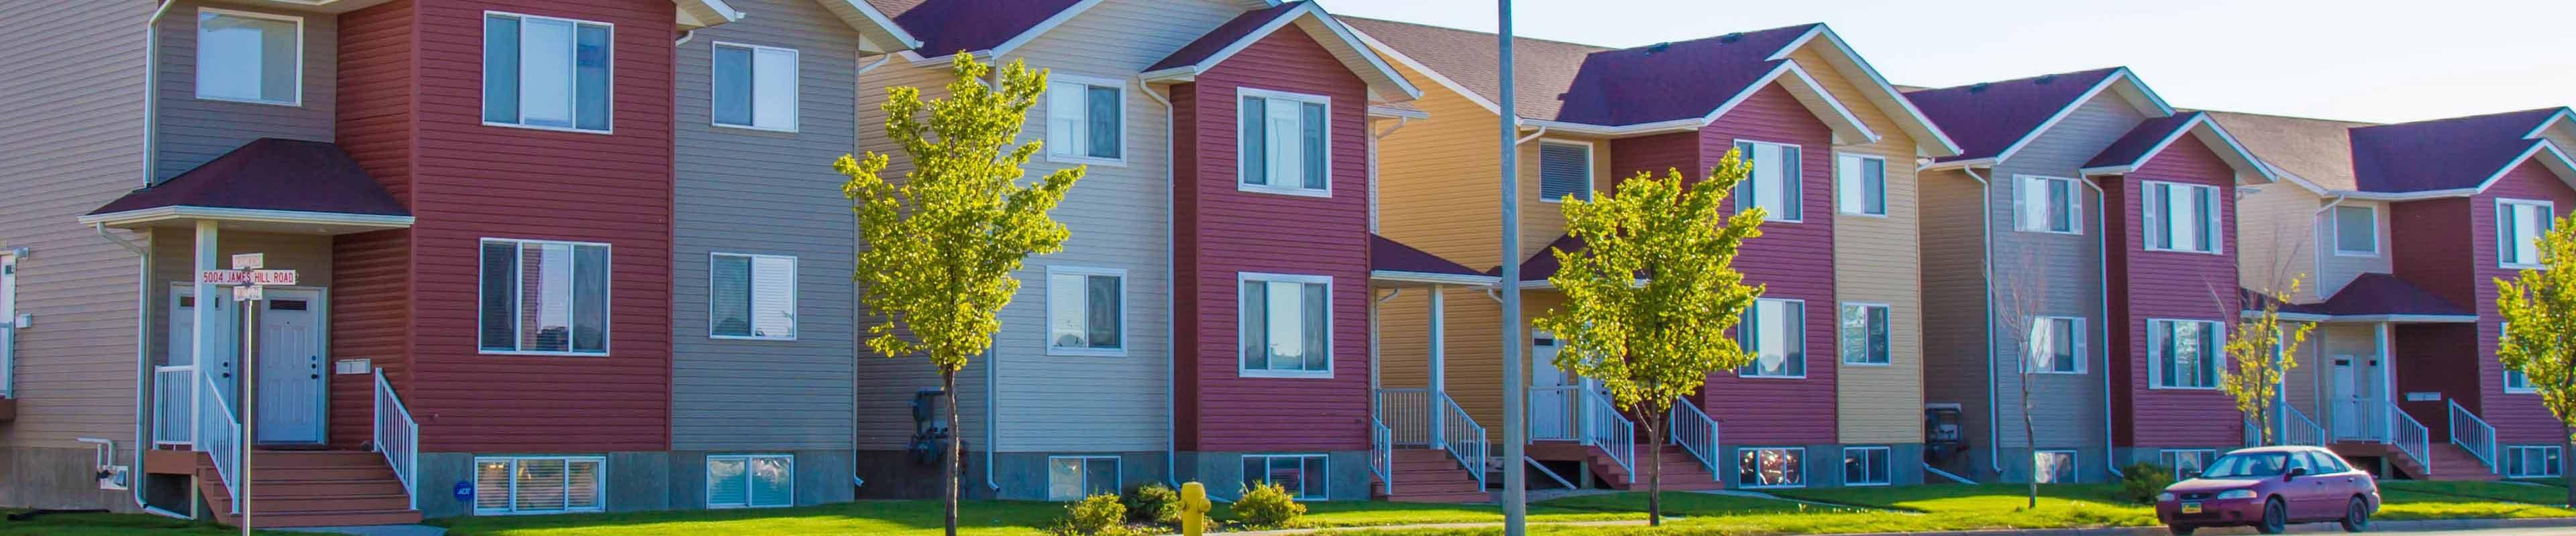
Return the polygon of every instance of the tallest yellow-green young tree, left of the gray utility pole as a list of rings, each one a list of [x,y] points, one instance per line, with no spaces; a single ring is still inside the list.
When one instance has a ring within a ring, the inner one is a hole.
[[[994,317],[1020,291],[1020,260],[1064,247],[1064,224],[1046,211],[1084,168],[1020,186],[1020,165],[1038,142],[1020,144],[1028,106],[1046,93],[1046,72],[1010,62],[992,85],[992,64],[956,54],[948,98],[922,100],[920,88],[891,88],[886,137],[904,147],[912,170],[889,180],[886,155],[832,162],[850,178],[840,193],[858,211],[863,302],[886,322],[868,327],[868,350],[886,358],[930,356],[958,423],[956,376],[966,358],[992,345]],[[927,121],[922,119],[927,111]],[[963,441],[948,436],[948,533],[958,533]]]

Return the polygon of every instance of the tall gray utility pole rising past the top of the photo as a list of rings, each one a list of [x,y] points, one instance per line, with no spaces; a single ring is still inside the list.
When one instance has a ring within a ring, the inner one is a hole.
[[[1494,46],[1502,57],[1502,533],[1530,531],[1530,474],[1522,469],[1522,443],[1528,443],[1528,389],[1520,368],[1520,348],[1530,343],[1520,332],[1520,113],[1512,108],[1512,0],[1494,0],[1502,28]]]

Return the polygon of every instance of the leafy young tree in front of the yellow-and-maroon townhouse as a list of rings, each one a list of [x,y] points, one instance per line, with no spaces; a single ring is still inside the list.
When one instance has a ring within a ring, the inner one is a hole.
[[[1708,180],[1638,173],[1597,201],[1566,198],[1566,232],[1579,253],[1556,250],[1548,276],[1566,302],[1533,320],[1566,345],[1556,366],[1610,392],[1618,410],[1646,425],[1651,474],[1646,523],[1664,523],[1664,438],[1672,402],[1708,374],[1752,363],[1728,327],[1762,296],[1734,268],[1744,240],[1762,237],[1762,209],[1723,216],[1728,191],[1752,168],[1726,155]]]

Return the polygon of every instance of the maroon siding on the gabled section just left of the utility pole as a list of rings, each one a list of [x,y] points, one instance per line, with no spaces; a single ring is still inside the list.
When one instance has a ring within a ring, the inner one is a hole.
[[[1332,198],[1236,191],[1236,88],[1332,98]],[[1182,451],[1368,448],[1368,93],[1303,31],[1172,88]],[[1285,222],[1285,224],[1283,224]],[[1244,379],[1236,273],[1332,276],[1332,379]]]

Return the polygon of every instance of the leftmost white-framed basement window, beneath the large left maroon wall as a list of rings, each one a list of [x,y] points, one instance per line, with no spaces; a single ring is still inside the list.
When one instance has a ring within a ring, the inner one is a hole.
[[[603,456],[474,456],[474,515],[605,510]]]

